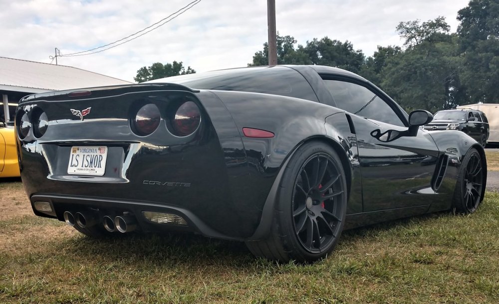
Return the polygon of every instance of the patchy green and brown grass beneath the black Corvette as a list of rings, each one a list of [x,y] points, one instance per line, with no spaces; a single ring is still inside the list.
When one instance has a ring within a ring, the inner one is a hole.
[[[23,195],[14,184],[0,184],[0,200]],[[55,220],[4,217],[0,303],[498,303],[498,235],[497,192],[473,215],[347,231],[314,265],[255,259],[242,243],[195,235],[96,241]]]

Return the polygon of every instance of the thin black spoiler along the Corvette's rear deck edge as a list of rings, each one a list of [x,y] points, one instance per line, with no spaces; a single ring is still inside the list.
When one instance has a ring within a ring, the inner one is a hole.
[[[121,95],[130,92],[144,92],[144,91],[189,91],[189,92],[199,92],[197,89],[192,89],[182,84],[177,83],[148,83],[148,84],[123,84],[123,85],[110,85],[110,86],[99,86],[72,90],[62,90],[62,91],[51,91],[45,93],[32,94],[23,97],[19,101],[19,105],[25,102],[34,100],[76,100],[83,98],[99,98]]]

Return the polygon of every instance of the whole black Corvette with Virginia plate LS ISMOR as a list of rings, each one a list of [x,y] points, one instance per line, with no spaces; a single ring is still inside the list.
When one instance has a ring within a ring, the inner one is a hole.
[[[190,231],[315,261],[344,229],[477,209],[484,149],[422,130],[432,118],[345,70],[273,66],[30,95],[16,130],[38,216],[92,237]]]

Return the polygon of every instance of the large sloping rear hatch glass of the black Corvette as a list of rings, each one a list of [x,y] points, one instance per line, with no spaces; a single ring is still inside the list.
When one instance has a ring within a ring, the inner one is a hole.
[[[318,101],[305,78],[284,66],[220,70],[147,82],[173,82],[195,89],[266,93]]]

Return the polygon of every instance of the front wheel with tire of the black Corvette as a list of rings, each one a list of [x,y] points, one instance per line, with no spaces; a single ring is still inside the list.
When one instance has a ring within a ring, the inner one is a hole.
[[[474,213],[482,201],[484,165],[477,149],[471,148],[461,164],[454,190],[453,208],[458,213]]]

